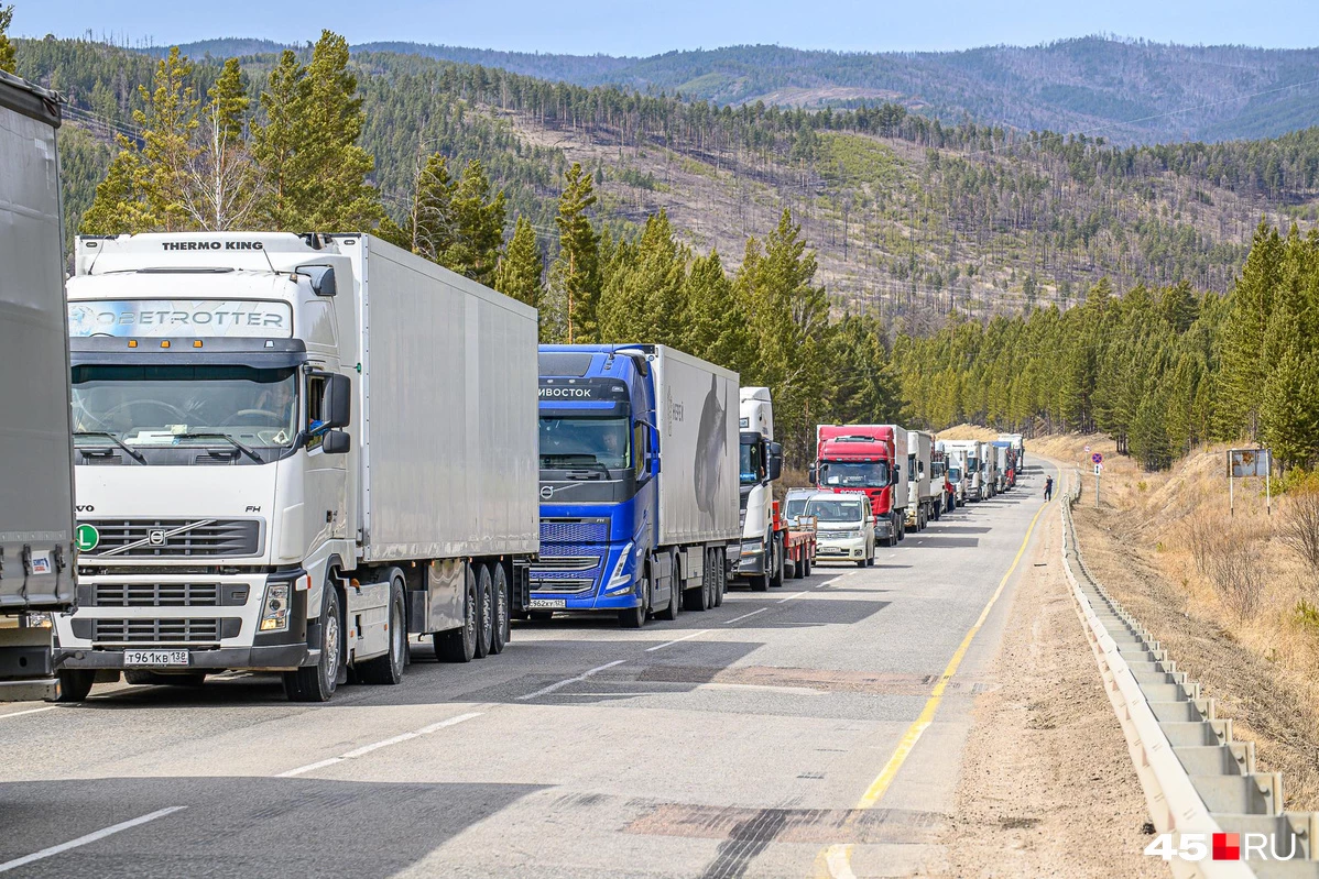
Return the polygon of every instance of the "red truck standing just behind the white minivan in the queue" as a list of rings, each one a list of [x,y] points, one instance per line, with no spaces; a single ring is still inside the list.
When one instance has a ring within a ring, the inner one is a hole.
[[[811,481],[822,492],[855,492],[871,499],[876,543],[905,536],[906,431],[897,424],[820,424],[815,428]]]

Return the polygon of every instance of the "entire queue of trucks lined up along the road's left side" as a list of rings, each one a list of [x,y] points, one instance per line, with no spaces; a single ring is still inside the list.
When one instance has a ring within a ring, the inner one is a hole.
[[[1020,467],[1020,436],[822,426],[822,515],[789,514],[769,389],[537,345],[533,308],[364,233],[82,236],[66,285],[58,124],[0,74],[0,698],[247,669],[324,701],[421,639],[464,663],[514,617],[674,619],[843,534],[871,563]]]

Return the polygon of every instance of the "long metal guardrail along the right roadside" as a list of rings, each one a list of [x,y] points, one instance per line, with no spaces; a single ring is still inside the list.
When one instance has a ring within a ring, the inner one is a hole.
[[[1239,742],[1232,721],[1215,716],[1167,651],[1089,573],[1076,542],[1071,510],[1080,498],[1076,472],[1064,497],[1063,571],[1086,637],[1104,677],[1157,833],[1266,834],[1291,861],[1173,859],[1173,875],[1204,879],[1319,878],[1319,813],[1282,810],[1282,776],[1257,772],[1254,742]],[[1242,849],[1242,854],[1245,850]]]

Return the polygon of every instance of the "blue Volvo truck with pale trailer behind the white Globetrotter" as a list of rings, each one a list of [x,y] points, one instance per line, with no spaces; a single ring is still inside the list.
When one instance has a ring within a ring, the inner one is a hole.
[[[529,615],[723,604],[739,546],[737,373],[665,345],[541,345]]]

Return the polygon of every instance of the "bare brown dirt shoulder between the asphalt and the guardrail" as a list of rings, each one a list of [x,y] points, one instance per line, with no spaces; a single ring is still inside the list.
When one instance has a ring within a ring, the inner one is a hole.
[[[1141,854],[1149,813],[1062,573],[1057,506],[1039,527],[995,660],[1002,685],[976,702],[950,875],[1167,875]]]

